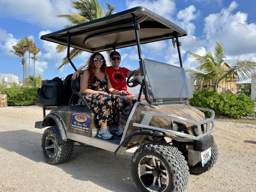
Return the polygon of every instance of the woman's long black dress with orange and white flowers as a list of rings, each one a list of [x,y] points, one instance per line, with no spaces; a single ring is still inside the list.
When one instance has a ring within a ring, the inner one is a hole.
[[[107,85],[108,78],[106,76],[102,81],[100,81],[98,77],[94,76],[92,86],[89,83],[88,88],[99,92],[106,92]],[[119,95],[96,93],[83,94],[83,97],[91,107],[93,113],[97,115],[99,125],[105,122],[117,123],[119,116],[124,114],[124,105]],[[82,105],[84,105],[84,103],[82,103]]]

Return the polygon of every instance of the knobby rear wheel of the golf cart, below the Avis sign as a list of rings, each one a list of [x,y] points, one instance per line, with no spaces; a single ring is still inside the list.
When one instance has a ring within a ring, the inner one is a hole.
[[[49,127],[42,135],[42,153],[50,164],[60,164],[67,161],[73,153],[74,141],[63,141],[56,126]]]

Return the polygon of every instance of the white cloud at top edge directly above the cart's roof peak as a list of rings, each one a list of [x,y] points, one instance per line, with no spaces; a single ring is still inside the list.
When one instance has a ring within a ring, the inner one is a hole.
[[[174,0],[126,0],[126,6],[128,9],[136,6],[143,6],[167,19],[170,19],[171,14],[176,10]]]

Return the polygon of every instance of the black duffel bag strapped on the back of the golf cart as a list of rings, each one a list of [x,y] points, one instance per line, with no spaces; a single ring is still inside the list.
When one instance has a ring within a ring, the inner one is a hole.
[[[69,98],[65,95],[63,80],[59,77],[46,80],[38,92],[38,102],[44,106],[68,105]]]

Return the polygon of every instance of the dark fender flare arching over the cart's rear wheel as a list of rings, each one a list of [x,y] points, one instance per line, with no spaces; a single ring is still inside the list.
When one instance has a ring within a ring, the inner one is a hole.
[[[44,117],[42,121],[42,127],[49,127],[56,125],[60,132],[60,138],[63,141],[67,141],[67,135],[65,132],[65,124],[62,118],[56,113],[49,113],[47,116]]]

